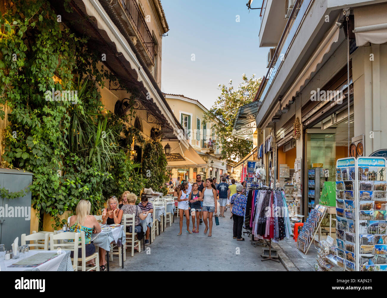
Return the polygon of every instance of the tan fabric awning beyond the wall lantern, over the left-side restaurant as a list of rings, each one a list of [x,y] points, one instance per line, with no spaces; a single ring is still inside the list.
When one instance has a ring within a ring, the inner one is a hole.
[[[185,147],[182,147],[181,143],[176,140],[163,141],[163,147],[165,147],[167,143],[171,146],[171,154],[166,156],[168,168],[181,168],[184,166],[196,168],[208,165],[191,146],[189,146],[188,149],[185,149]]]

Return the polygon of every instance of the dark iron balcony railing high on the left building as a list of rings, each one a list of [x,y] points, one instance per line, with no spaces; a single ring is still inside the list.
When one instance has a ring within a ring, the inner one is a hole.
[[[147,22],[142,15],[139,5],[135,0],[118,0],[122,9],[125,11],[130,24],[135,29],[137,35],[144,46],[144,49],[149,55],[149,59],[153,63],[154,58],[154,41],[152,38],[151,31],[147,26]]]

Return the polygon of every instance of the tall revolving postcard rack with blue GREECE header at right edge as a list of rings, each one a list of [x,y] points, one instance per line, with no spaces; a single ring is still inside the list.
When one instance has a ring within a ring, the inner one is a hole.
[[[336,163],[335,261],[346,271],[387,271],[385,158]]]

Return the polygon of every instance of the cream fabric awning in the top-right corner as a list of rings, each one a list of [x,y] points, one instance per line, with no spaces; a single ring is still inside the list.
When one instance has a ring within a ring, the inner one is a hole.
[[[354,9],[356,46],[387,42],[387,3]]]

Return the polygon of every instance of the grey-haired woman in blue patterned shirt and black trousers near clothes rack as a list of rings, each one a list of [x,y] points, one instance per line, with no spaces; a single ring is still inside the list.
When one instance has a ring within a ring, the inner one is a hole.
[[[231,197],[230,204],[233,204],[233,239],[237,241],[244,241],[242,238],[243,217],[245,216],[245,209],[247,198],[242,194],[243,186],[238,184],[236,186],[236,194]]]

